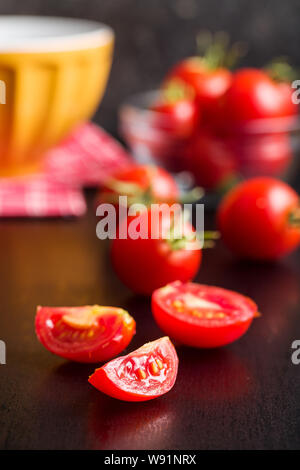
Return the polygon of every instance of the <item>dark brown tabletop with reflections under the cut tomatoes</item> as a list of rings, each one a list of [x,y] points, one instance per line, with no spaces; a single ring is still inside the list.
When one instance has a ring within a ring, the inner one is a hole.
[[[197,280],[236,289],[261,318],[226,348],[178,348],[177,382],[145,403],[111,399],[87,383],[93,365],[48,353],[34,333],[36,305],[108,304],[137,321],[128,351],[162,336],[149,299],[131,294],[96,238],[95,216],[0,223],[0,448],[278,449],[300,447],[300,252],[275,265],[235,261],[218,243]]]

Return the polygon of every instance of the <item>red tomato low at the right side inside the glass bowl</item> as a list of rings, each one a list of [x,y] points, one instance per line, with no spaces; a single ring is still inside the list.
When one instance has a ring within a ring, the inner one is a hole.
[[[247,177],[281,176],[293,157],[289,135],[285,133],[239,136],[232,141],[232,149],[240,172]]]

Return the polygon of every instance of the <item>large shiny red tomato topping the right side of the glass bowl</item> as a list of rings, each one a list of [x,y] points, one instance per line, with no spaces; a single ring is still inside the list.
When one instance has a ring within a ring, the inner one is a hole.
[[[233,76],[221,100],[223,125],[239,127],[251,119],[283,118],[295,115],[292,88],[272,80],[258,69],[241,69]]]

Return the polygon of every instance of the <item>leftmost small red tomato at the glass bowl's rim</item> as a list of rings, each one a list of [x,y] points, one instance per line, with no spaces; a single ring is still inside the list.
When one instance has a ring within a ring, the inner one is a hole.
[[[200,112],[194,100],[163,100],[155,103],[151,109],[159,113],[155,126],[179,139],[190,137],[198,126]]]

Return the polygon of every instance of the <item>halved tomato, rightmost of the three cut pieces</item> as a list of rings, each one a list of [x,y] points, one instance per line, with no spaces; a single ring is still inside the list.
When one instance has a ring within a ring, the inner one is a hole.
[[[221,287],[176,281],[153,292],[152,312],[160,328],[180,343],[215,348],[242,336],[257,306]]]

